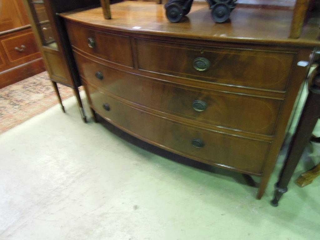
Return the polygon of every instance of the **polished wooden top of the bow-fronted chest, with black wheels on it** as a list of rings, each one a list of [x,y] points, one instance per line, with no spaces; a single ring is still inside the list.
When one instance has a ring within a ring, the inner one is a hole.
[[[101,7],[61,13],[66,19],[132,33],[204,39],[221,42],[320,46],[320,16],[311,16],[299,39],[288,38],[291,10],[244,8],[231,13],[231,21],[217,24],[207,4],[194,3],[180,23],[165,17],[163,4],[125,1],[110,6],[112,19],[103,18]],[[317,14],[319,15],[319,14]]]

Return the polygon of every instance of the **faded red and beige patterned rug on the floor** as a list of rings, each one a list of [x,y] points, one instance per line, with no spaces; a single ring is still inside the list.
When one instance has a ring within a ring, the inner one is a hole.
[[[58,87],[62,99],[73,96],[71,88]],[[0,134],[58,103],[47,72],[0,89]]]

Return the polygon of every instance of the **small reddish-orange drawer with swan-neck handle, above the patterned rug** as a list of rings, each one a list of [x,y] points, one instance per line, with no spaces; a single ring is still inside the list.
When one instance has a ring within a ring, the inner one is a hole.
[[[1,42],[10,62],[27,58],[31,60],[40,57],[36,39],[32,32],[8,37]]]

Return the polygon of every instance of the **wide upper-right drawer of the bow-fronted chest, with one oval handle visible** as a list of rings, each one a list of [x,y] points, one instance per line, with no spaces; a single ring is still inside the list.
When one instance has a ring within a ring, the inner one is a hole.
[[[294,54],[136,39],[141,70],[219,84],[285,91]],[[156,57],[150,57],[156,56]]]

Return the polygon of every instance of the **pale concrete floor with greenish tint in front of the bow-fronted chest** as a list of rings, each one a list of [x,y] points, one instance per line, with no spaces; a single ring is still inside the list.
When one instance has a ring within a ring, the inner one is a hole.
[[[70,98],[0,135],[1,240],[320,238],[320,179],[269,204],[283,154],[259,201],[242,174],[95,124],[84,103],[87,124]]]

